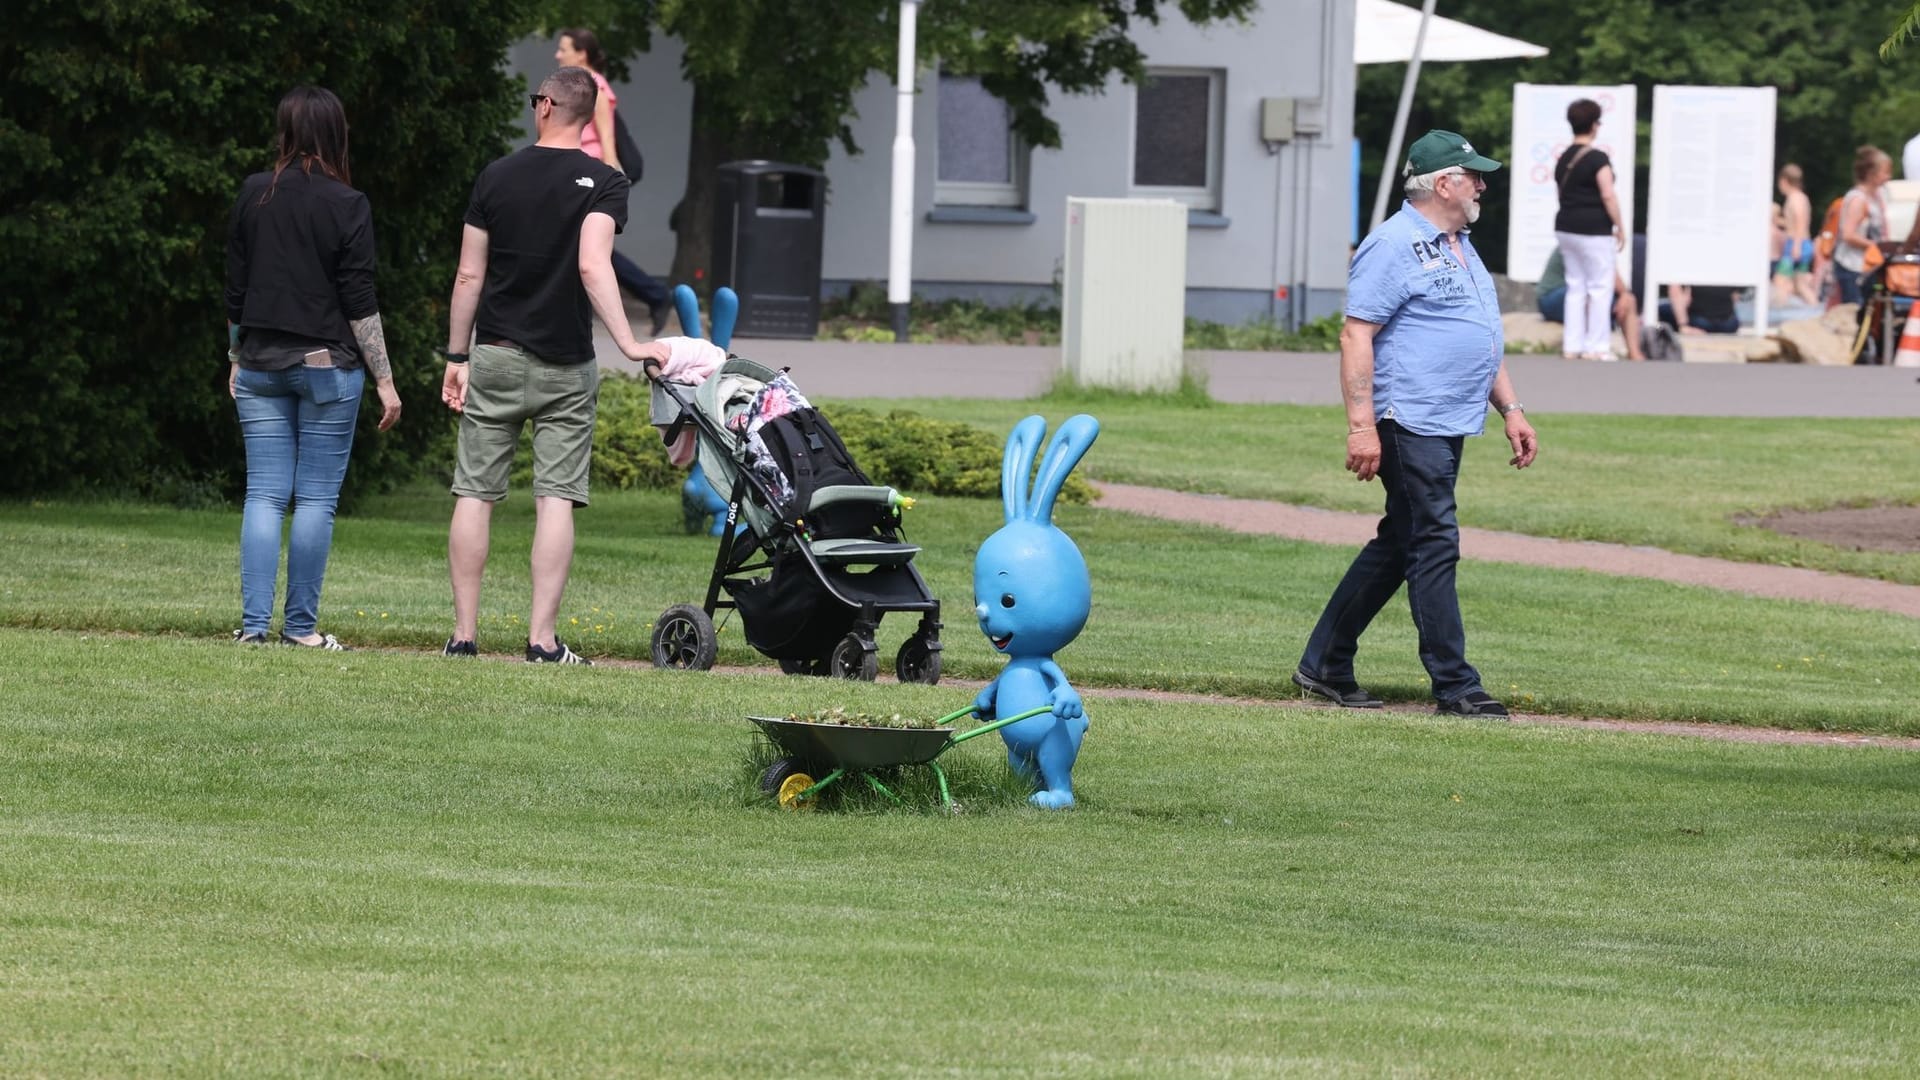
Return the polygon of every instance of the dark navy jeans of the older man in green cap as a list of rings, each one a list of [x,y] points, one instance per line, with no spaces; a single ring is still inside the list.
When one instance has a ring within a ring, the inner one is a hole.
[[[1386,517],[1332,590],[1300,671],[1336,686],[1352,684],[1359,636],[1405,582],[1421,663],[1432,678],[1434,700],[1448,703],[1480,688],[1480,673],[1467,663],[1467,630],[1453,592],[1453,565],[1459,563],[1453,480],[1459,479],[1463,440],[1413,434],[1394,421],[1380,421],[1379,432]]]

